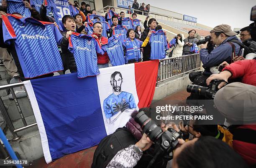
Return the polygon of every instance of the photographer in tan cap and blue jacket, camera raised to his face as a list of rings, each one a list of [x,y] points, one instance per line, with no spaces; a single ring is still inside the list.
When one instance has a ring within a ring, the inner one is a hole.
[[[218,25],[210,31],[211,42],[215,45],[215,48],[208,53],[207,45],[201,44],[200,50],[200,60],[203,63],[203,68],[205,68],[205,74],[210,75],[210,68],[213,66],[218,66],[223,61],[228,63],[232,62],[233,54],[238,55],[240,50],[240,45],[236,43],[230,43],[230,40],[238,40],[236,37],[236,32],[231,30],[229,25]]]

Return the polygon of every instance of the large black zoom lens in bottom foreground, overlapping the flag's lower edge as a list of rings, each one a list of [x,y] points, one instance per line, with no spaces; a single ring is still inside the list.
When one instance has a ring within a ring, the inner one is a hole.
[[[163,133],[163,130],[156,125],[156,122],[151,120],[143,111],[139,112],[134,119],[141,125],[143,132],[146,133],[152,141],[158,139]]]

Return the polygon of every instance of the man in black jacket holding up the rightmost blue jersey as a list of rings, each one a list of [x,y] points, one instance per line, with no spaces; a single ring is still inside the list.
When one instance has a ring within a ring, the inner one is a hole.
[[[156,19],[155,18],[151,18],[148,20],[148,28],[146,28],[143,33],[141,34],[141,41],[144,41],[147,36],[148,36],[148,32],[149,30],[154,30],[156,28]],[[151,46],[148,43],[146,45],[146,47],[144,47],[143,49],[143,61],[148,61],[150,60],[150,53],[151,53]]]

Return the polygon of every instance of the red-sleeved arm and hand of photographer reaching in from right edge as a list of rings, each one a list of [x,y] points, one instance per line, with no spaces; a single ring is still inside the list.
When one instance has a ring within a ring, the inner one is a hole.
[[[212,74],[207,78],[207,85],[214,79],[225,80],[228,82],[228,79],[242,78],[242,83],[256,86],[256,60],[240,60],[228,65],[228,63],[223,63],[225,68],[219,74]],[[225,85],[225,82],[220,83],[218,88],[221,88]]]

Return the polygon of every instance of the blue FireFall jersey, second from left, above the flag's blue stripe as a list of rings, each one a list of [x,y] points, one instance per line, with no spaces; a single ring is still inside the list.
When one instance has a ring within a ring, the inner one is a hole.
[[[69,51],[73,53],[77,64],[77,77],[85,78],[100,74],[97,66],[97,54],[100,53],[100,45],[89,35],[73,33],[69,38]],[[96,47],[96,48],[95,48]]]

